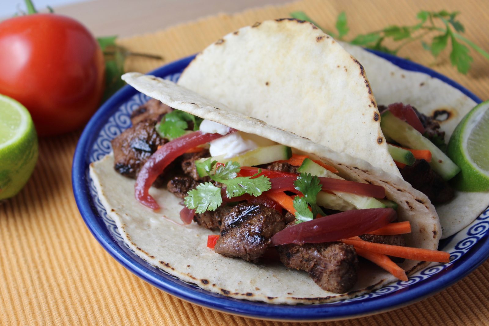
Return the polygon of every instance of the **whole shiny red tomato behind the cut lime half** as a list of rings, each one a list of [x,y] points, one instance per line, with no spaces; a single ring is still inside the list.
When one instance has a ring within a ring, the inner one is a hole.
[[[82,126],[97,109],[105,65],[81,23],[55,14],[0,23],[0,93],[21,102],[41,135]]]

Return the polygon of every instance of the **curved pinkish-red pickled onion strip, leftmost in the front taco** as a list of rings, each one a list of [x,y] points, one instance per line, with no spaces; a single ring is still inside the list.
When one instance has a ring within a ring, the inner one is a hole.
[[[229,133],[236,130],[229,130]],[[134,195],[136,199],[153,210],[158,210],[160,207],[149,194],[149,189],[153,182],[163,170],[173,162],[178,156],[185,153],[187,150],[196,146],[208,143],[214,139],[222,137],[219,133],[203,133],[194,131],[183,135],[163,145],[159,150],[153,153],[150,158],[139,171],[136,184],[134,186]]]

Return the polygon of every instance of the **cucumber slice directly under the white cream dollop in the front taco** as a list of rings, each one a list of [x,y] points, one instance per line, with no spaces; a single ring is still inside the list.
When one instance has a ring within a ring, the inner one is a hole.
[[[288,160],[292,156],[292,150],[288,146],[279,144],[259,147],[252,151],[245,152],[244,154],[231,158],[224,158],[224,156],[225,155],[211,157],[211,161],[218,161],[219,163],[233,161],[238,162],[241,166],[255,166],[275,161]],[[198,160],[198,162],[203,162],[207,158],[201,158],[200,160]],[[201,171],[198,167],[197,173],[201,177],[207,175],[205,171]]]

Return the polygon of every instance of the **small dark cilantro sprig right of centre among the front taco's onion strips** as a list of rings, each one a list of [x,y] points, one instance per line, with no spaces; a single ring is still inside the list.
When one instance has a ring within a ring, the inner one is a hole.
[[[300,191],[304,196],[296,196],[293,200],[295,209],[296,223],[310,221],[318,214],[325,216],[321,207],[316,204],[317,194],[321,191],[321,183],[315,175],[301,173],[294,181],[294,188]],[[309,210],[311,205],[311,210]]]

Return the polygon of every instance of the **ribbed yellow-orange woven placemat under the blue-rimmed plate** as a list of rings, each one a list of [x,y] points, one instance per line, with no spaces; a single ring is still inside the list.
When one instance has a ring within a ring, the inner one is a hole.
[[[308,0],[236,15],[218,15],[154,34],[121,40],[138,52],[157,53],[165,62],[133,58],[128,70],[146,72],[200,51],[225,33],[265,19],[305,10],[334,29],[337,14],[348,13],[351,35],[388,24],[411,24],[417,11],[459,10],[466,36],[489,50],[487,1],[375,2]],[[400,55],[433,64],[420,45]],[[447,56],[444,56],[446,58]],[[474,54],[467,76],[441,59],[434,68],[483,99],[489,98],[489,61]],[[89,233],[71,189],[71,161],[80,130],[40,140],[36,170],[22,192],[0,205],[1,325],[281,325],[219,313],[178,300],[141,281],[118,264]],[[445,291],[391,312],[333,322],[334,325],[489,324],[489,262]]]

